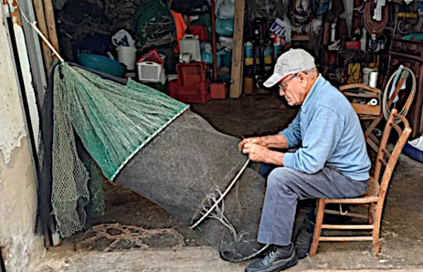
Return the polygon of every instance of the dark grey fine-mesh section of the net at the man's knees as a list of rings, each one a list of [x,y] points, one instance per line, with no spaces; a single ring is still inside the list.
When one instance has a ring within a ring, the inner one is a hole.
[[[192,225],[247,161],[238,142],[186,111],[138,151],[115,180]],[[241,261],[264,247],[257,243],[264,192],[264,178],[245,169],[214,215],[198,226],[222,259]]]

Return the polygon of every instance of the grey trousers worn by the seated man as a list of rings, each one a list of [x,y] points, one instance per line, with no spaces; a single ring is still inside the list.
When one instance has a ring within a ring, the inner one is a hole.
[[[345,177],[335,167],[324,167],[312,175],[277,167],[267,178],[258,242],[277,245],[291,242],[298,199],[354,198],[362,196],[368,184],[368,180]]]

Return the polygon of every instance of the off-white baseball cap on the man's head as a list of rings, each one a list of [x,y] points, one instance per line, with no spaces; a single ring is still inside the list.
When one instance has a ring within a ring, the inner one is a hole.
[[[314,57],[304,49],[290,49],[281,54],[281,57],[276,61],[274,74],[264,82],[264,86],[270,88],[275,85],[282,78],[303,71],[315,69]]]

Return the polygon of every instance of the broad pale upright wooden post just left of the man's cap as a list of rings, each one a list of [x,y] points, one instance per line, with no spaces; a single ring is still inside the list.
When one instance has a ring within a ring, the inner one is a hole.
[[[232,69],[231,90],[229,96],[238,98],[243,88],[243,36],[244,36],[244,12],[245,0],[235,0],[235,18],[233,22],[233,51],[232,51]]]

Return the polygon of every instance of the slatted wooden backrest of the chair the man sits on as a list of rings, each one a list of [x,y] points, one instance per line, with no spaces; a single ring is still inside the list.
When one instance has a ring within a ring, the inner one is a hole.
[[[404,129],[401,129],[398,124],[395,124],[394,121],[396,118],[400,119],[401,122],[403,122]],[[390,153],[386,149],[386,144],[388,143],[389,136],[391,136],[391,132],[393,131],[393,129],[398,133],[398,140],[393,148],[392,153]],[[372,182],[375,182],[376,184],[372,185],[379,188],[379,190],[376,191],[376,194],[378,194],[379,199],[384,199],[386,195],[386,190],[388,189],[388,184],[391,180],[393,170],[396,166],[396,163],[398,162],[398,158],[400,157],[401,151],[403,150],[405,143],[407,143],[410,134],[411,129],[407,119],[405,119],[405,117],[403,117],[402,115],[398,114],[398,111],[396,109],[392,110],[391,114],[389,115],[388,122],[386,122],[384,134],[382,135],[381,144],[379,146],[379,152],[377,153],[374,165],[374,174]],[[384,174],[381,177],[381,181],[379,182],[382,166],[384,166],[385,169]]]

